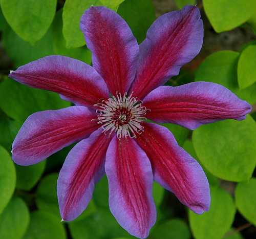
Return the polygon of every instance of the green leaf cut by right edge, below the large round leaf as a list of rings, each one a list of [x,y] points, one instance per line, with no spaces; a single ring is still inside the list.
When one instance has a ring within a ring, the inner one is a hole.
[[[256,226],[256,178],[238,183],[235,191],[236,205],[240,213]]]

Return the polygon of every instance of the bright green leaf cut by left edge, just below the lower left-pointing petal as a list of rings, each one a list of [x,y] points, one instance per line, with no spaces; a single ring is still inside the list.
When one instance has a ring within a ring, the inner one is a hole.
[[[14,163],[8,152],[0,146],[0,214],[10,201],[16,184]]]

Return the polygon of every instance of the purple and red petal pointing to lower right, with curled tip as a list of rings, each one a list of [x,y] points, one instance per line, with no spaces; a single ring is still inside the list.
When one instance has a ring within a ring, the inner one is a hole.
[[[167,128],[147,122],[143,125],[144,132],[135,141],[151,161],[154,180],[195,213],[208,211],[209,183],[200,164],[177,144]]]

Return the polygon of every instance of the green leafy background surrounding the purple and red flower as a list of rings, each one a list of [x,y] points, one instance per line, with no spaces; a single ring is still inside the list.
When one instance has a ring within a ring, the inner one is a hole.
[[[11,145],[26,118],[37,111],[70,106],[52,92],[8,78],[32,60],[60,54],[91,63],[79,30],[92,4],[117,11],[140,43],[156,16],[193,4],[201,10],[205,38],[201,53],[167,84],[222,84],[250,104],[256,102],[256,4],[254,0],[0,0],[0,238],[132,238],[108,207],[108,182],[96,185],[93,200],[73,222],[60,223],[56,181],[70,147],[32,166],[11,160]],[[154,184],[158,210],[148,238],[256,237],[256,113],[244,121],[203,125],[194,132],[164,124],[205,169],[211,187],[209,212],[197,215]],[[254,172],[253,172],[254,171]]]

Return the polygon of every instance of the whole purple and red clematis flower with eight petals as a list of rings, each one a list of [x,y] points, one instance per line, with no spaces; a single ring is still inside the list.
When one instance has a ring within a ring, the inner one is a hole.
[[[14,162],[35,164],[78,142],[57,182],[65,221],[86,209],[105,173],[110,210],[134,236],[147,237],[155,224],[153,180],[195,213],[208,211],[209,184],[199,163],[167,128],[145,121],[193,130],[219,120],[243,120],[251,110],[219,84],[161,86],[202,47],[199,9],[185,6],[159,17],[140,45],[126,22],[105,7],[86,10],[80,29],[92,51],[93,67],[65,56],[47,56],[9,75],[75,104],[29,116],[13,142]]]

